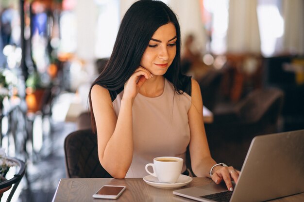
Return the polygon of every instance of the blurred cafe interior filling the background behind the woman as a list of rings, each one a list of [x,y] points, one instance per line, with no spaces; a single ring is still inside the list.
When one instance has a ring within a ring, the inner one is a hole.
[[[134,1],[0,0],[0,147],[26,164],[12,202],[51,202],[67,177],[65,137],[90,127],[90,85]],[[240,169],[254,136],[304,128],[303,0],[163,1],[216,161]]]

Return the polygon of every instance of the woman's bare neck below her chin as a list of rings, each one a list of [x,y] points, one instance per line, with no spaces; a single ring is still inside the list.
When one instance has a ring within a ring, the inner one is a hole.
[[[165,77],[155,76],[144,82],[139,93],[146,97],[158,97],[164,92]]]

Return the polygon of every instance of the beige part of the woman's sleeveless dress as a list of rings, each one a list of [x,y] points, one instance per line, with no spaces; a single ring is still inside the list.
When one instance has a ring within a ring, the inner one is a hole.
[[[160,96],[151,98],[137,94],[133,104],[134,153],[126,177],[148,175],[145,165],[158,156],[183,158],[182,172],[186,171],[186,148],[190,141],[187,116],[191,106],[189,94],[176,93],[167,79]],[[117,116],[122,95],[123,91],[112,99]]]

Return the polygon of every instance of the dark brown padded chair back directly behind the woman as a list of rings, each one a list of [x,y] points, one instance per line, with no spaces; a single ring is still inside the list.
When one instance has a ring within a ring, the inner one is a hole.
[[[91,129],[70,133],[64,143],[68,178],[112,177],[98,158],[97,135]]]

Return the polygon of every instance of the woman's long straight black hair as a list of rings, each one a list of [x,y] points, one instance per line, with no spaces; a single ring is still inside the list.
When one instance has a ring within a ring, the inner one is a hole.
[[[90,95],[92,87],[97,84],[110,92],[123,89],[125,82],[138,68],[154,32],[170,22],[176,29],[176,55],[164,77],[173,84],[177,93],[185,91],[189,78],[184,76],[180,70],[181,31],[175,14],[162,1],[136,1],[123,17],[112,55],[90,89],[89,104],[93,131],[96,132],[96,123]]]

